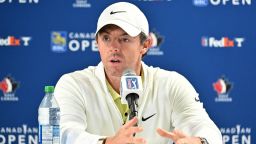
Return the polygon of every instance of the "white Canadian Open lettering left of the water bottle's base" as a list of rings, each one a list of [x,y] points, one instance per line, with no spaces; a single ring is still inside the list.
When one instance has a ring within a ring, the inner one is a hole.
[[[37,144],[38,128],[29,127],[27,124],[21,126],[0,127],[0,144]]]

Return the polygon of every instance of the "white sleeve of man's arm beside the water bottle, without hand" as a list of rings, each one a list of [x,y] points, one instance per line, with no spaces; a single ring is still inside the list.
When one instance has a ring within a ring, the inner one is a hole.
[[[58,81],[54,96],[60,106],[61,143],[97,144],[104,136],[86,132],[85,101],[78,84],[70,75]]]

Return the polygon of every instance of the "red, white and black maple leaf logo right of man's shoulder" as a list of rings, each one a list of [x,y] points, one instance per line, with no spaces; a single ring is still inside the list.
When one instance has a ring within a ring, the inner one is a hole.
[[[233,83],[226,77],[222,76],[217,82],[213,83],[213,88],[217,92],[216,102],[232,102],[229,97],[230,90],[233,88]]]

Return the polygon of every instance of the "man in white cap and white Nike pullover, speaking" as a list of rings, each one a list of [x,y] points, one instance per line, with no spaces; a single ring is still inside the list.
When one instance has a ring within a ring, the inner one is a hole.
[[[102,12],[96,31],[101,62],[62,76],[56,85],[62,143],[222,143],[191,84],[176,72],[142,62],[151,45],[148,34],[148,21],[133,4],[118,2]],[[119,95],[126,69],[143,80],[138,117],[130,121]]]

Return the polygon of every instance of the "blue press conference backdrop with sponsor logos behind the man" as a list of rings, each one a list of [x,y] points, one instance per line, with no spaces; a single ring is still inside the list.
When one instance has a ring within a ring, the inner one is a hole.
[[[37,143],[44,86],[99,63],[97,18],[113,2],[0,0],[0,144]],[[143,61],[193,84],[223,143],[256,143],[255,1],[129,2],[145,12],[154,40]]]

